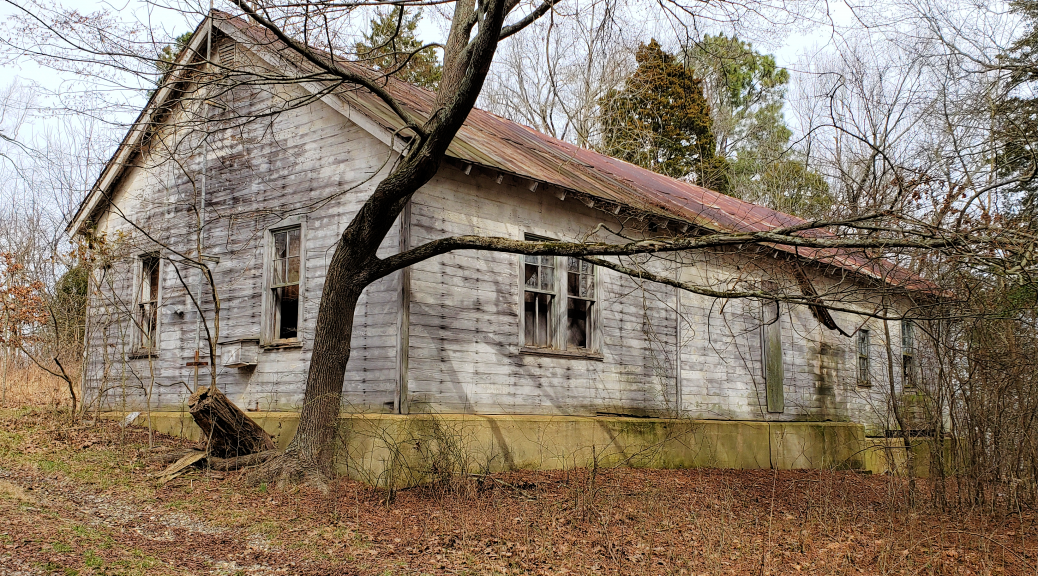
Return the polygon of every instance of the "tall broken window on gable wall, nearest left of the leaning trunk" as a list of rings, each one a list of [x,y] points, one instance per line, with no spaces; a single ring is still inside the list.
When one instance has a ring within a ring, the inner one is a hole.
[[[299,226],[271,232],[270,340],[299,337],[299,296],[302,277],[302,230]]]

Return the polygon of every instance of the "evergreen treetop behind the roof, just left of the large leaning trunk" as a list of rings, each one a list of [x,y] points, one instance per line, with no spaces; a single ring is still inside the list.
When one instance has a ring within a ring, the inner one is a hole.
[[[374,70],[435,90],[442,72],[431,48],[419,51],[422,45],[414,30],[420,20],[421,10],[410,15],[403,6],[395,6],[388,12],[380,10],[372,19],[363,40],[356,44],[357,56]]]

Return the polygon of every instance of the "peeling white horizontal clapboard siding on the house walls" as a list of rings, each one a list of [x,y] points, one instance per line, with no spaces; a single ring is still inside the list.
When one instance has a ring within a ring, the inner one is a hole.
[[[269,97],[239,90],[225,101],[244,113],[263,112]],[[166,135],[169,141],[177,137]],[[320,103],[217,131],[211,144],[204,159],[195,147],[180,165],[159,156],[137,162],[139,167],[113,191],[117,210],[98,223],[108,238],[128,235],[130,240],[110,268],[94,271],[102,287],[90,296],[88,400],[101,394],[109,408],[139,409],[151,393],[153,409],[184,409],[195,382],[187,363],[195,350],[198,317],[188,291],[195,291],[196,272],[163,262],[158,353],[132,358],[136,332],[127,311],[133,307],[134,259],[156,247],[127,220],[160,243],[191,253],[197,234],[191,205],[197,202],[204,162],[206,253],[219,258],[213,273],[221,303],[220,339],[260,334],[266,230],[290,213],[305,220],[305,292],[301,347],[264,350],[249,368],[223,367],[218,360],[216,366],[199,368],[198,380],[208,383],[215,371],[228,396],[250,410],[296,410],[302,403],[328,260],[384,173],[376,172],[393,153]],[[406,235],[401,235],[405,224],[398,222],[379,255],[395,253],[402,238],[410,246],[458,235],[522,239],[530,234],[573,241],[601,223],[628,224],[574,198],[559,200],[543,187],[530,191],[527,182],[496,180],[496,173],[476,168],[466,174],[444,163],[413,196]],[[776,260],[748,253],[680,258],[680,267],[654,264],[653,270],[713,286],[757,281],[764,273],[782,275]],[[415,265],[406,283],[398,272],[368,286],[357,307],[344,410],[881,421],[875,410],[883,406],[886,367],[882,325],[875,321],[832,314],[848,332],[863,324],[872,330],[876,382],[866,387],[857,382],[853,338],[821,327],[805,307],[784,305],[786,408],[769,414],[760,302],[679,297],[673,287],[600,270],[598,356],[529,354],[521,350],[519,331],[520,263],[514,254],[458,251]],[[839,286],[839,277],[814,270],[810,275],[818,286]],[[401,309],[404,301],[406,310]],[[213,295],[202,295],[210,321],[213,302]],[[406,348],[401,344],[404,319]],[[897,328],[892,329],[895,346]],[[405,402],[398,405],[402,382]]]

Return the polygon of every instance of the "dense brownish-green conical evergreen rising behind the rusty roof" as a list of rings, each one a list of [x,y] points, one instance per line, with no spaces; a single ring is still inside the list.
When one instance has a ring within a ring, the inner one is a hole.
[[[602,99],[602,153],[726,191],[710,107],[692,71],[655,39],[641,45],[624,87]]]

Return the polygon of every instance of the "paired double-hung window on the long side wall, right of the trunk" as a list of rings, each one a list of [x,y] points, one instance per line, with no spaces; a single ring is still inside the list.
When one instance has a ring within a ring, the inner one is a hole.
[[[524,235],[527,242],[553,242],[554,239],[537,236],[532,234]],[[586,348],[569,348],[569,326],[568,326],[568,304],[569,304],[569,258],[572,256],[548,256],[552,258],[553,278],[551,291],[541,289],[527,289],[526,286],[526,254],[519,254],[518,258],[518,285],[519,285],[519,352],[521,354],[536,354],[542,356],[571,356],[591,359],[602,359],[601,354],[601,281],[599,267],[592,265],[592,281],[594,287],[591,298],[573,297],[579,300],[592,302],[591,312],[588,314]],[[543,257],[543,256],[538,256]],[[576,258],[579,259],[579,258]],[[550,294],[551,307],[548,312],[548,325],[551,335],[548,338],[548,346],[539,347],[526,344],[526,293]]]

